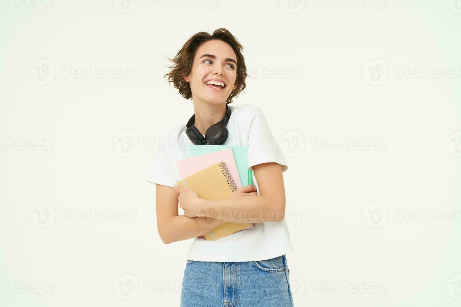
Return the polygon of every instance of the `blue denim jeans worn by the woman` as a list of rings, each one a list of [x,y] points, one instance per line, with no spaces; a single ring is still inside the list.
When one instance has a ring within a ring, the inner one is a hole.
[[[181,307],[293,307],[285,255],[268,260],[188,260]]]

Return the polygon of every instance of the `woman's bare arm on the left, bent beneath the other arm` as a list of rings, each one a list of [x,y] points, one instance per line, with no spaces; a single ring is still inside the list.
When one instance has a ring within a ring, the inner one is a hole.
[[[207,217],[189,218],[185,215],[178,215],[178,196],[179,193],[171,186],[157,184],[155,196],[157,229],[163,243],[168,244],[198,237],[225,223],[223,220]]]

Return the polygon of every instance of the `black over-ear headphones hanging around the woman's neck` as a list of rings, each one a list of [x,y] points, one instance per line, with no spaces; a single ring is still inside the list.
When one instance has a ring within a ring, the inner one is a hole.
[[[187,122],[186,134],[195,145],[221,145],[229,136],[226,128],[229,118],[231,118],[231,108],[226,104],[226,113],[223,119],[211,125],[205,133],[205,138],[203,138],[200,131],[193,125],[195,123],[194,114]]]

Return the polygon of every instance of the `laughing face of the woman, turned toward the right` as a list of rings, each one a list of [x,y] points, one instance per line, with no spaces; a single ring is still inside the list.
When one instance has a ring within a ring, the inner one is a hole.
[[[211,104],[225,103],[232,90],[237,88],[236,61],[234,50],[224,41],[211,40],[201,44],[195,52],[190,74],[183,76],[189,82],[192,99]]]

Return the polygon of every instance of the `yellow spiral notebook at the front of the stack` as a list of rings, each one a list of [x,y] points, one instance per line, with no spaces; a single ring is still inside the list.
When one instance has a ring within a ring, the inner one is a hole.
[[[228,199],[231,193],[236,190],[236,185],[225,162],[215,163],[200,172],[179,180],[177,185],[195,191],[200,198],[209,201]],[[252,228],[252,226],[251,223],[225,222],[205,233],[204,237],[206,240],[214,241],[231,233]]]

